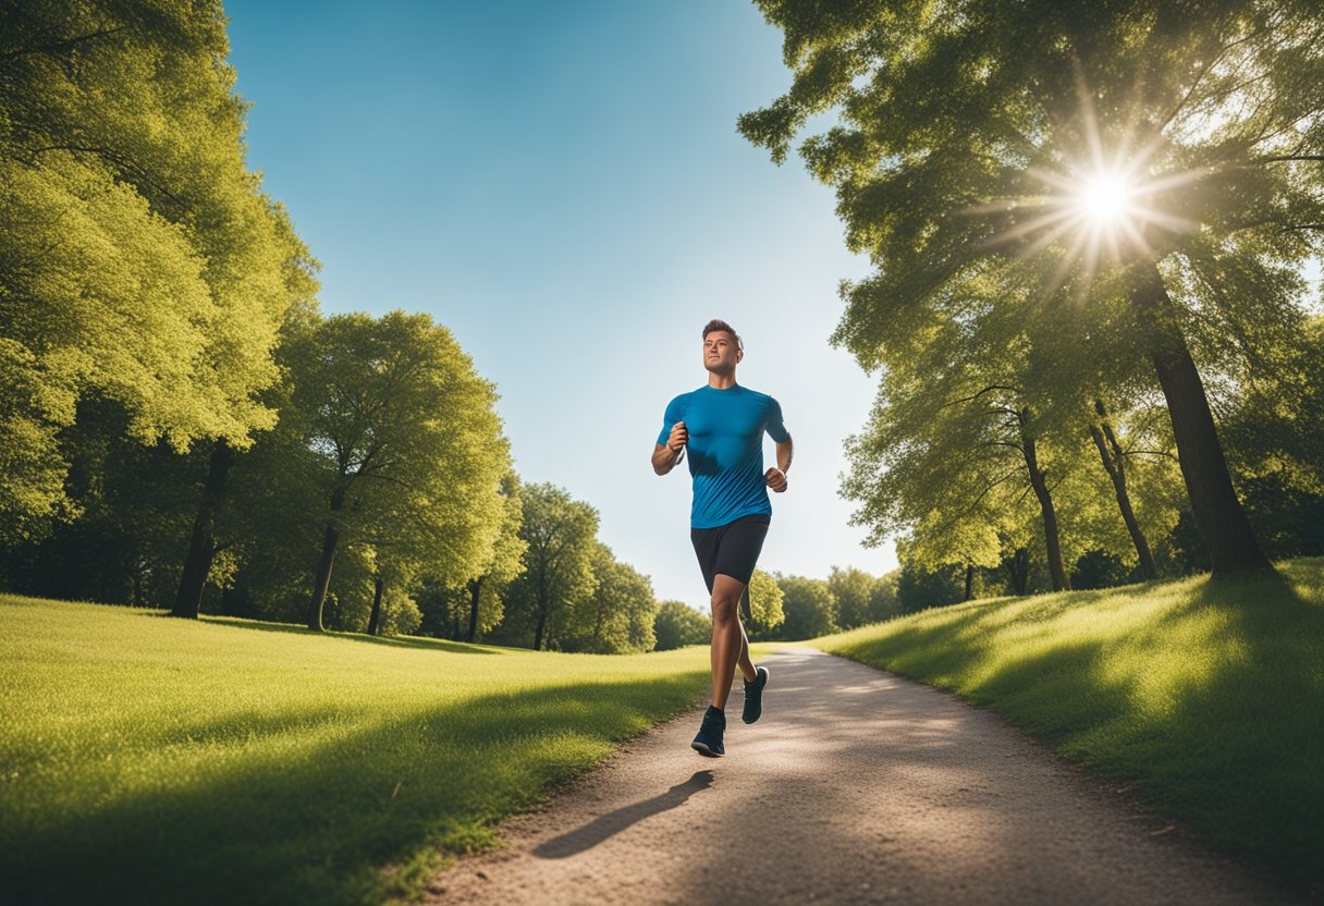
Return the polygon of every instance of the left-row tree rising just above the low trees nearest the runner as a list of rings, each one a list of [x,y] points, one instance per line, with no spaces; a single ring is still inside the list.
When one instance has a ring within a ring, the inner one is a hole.
[[[556,648],[597,588],[597,510],[549,483],[524,485],[524,572],[511,583],[502,634]],[[518,633],[518,634],[516,634]]]

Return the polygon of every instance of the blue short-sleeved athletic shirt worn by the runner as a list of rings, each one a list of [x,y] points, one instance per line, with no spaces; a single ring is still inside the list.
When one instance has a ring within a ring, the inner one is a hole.
[[[678,421],[690,432],[690,526],[716,528],[747,515],[772,515],[763,477],[763,433],[777,444],[790,440],[777,400],[739,384],[681,393],[666,407],[658,444],[666,444]]]

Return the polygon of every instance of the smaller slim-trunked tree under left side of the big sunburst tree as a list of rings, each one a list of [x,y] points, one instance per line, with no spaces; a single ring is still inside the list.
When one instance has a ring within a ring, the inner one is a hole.
[[[974,342],[969,321],[955,318],[924,332],[923,347],[886,371],[866,430],[847,441],[842,490],[861,502],[853,522],[871,527],[870,543],[907,538],[916,566],[993,566],[1001,536],[1030,518],[1033,493],[1054,588],[1064,588],[1050,477],[1070,473],[1058,468],[1070,450],[1045,441],[1038,400],[1021,384],[1033,348],[1019,326],[996,344]]]

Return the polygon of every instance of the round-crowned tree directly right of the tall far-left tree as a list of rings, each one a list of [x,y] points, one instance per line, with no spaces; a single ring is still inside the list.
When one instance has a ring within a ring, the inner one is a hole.
[[[318,454],[326,501],[308,628],[322,629],[343,543],[389,547],[446,584],[478,575],[500,534],[510,454],[495,391],[450,332],[428,315],[336,315],[290,360],[290,417]]]

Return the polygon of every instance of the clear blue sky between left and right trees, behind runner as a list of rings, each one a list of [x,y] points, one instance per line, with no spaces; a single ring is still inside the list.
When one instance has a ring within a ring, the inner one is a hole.
[[[649,468],[699,330],[745,338],[741,384],[796,438],[761,566],[882,574],[838,494],[875,381],[829,346],[834,197],[735,130],[790,82],[744,0],[230,0],[249,158],[322,261],[327,313],[428,311],[487,379],[528,482],[601,514],[659,597],[706,607],[688,476]],[[771,461],[771,442],[767,446]]]

